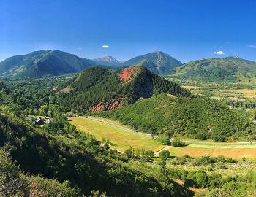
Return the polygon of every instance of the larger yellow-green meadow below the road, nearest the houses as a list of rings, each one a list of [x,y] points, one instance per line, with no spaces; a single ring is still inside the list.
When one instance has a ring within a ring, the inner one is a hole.
[[[78,129],[94,135],[97,140],[101,141],[103,137],[109,139],[110,142],[113,143],[110,147],[122,152],[127,150],[130,146],[135,149],[143,148],[155,152],[165,147],[156,140],[151,139],[151,136],[140,136],[140,134],[116,128],[113,125],[99,123],[83,117],[69,117],[69,120],[70,123],[75,125]]]

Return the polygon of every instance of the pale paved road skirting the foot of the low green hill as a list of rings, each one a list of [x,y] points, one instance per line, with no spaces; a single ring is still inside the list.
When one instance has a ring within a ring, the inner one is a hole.
[[[80,117],[83,117],[83,116],[80,116]],[[85,117],[83,117],[83,118],[85,118]],[[135,132],[134,130],[132,130],[130,128],[126,128],[124,126],[121,126],[121,125],[118,125],[118,124],[115,124],[115,123],[111,123],[108,120],[102,120],[102,119],[99,119],[97,117],[87,117],[87,118],[90,119],[90,120],[100,122],[100,123],[105,123],[107,125],[112,125],[116,128],[121,128],[124,131],[129,131],[129,132],[138,134],[140,136],[151,137],[151,135],[149,135],[149,134],[143,134],[143,133],[140,133],[140,132]],[[213,145],[213,146],[214,145],[227,145],[228,146],[228,145],[248,145],[248,144],[251,144],[251,142],[197,142],[197,141],[188,141],[188,140],[183,140],[183,142],[185,142],[186,144],[205,144],[205,145]],[[252,142],[252,144],[256,144],[256,142]]]

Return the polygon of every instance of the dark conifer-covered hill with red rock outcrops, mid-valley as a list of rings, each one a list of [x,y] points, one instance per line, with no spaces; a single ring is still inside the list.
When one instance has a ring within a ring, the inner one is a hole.
[[[143,66],[118,71],[92,67],[59,88],[60,104],[81,112],[116,109],[132,104],[140,97],[159,93],[191,96],[174,82],[169,82]]]

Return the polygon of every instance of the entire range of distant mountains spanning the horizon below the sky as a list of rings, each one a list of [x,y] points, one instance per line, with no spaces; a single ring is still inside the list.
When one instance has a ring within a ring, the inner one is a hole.
[[[81,72],[91,66],[118,69],[145,66],[155,74],[181,80],[203,82],[256,82],[256,63],[237,56],[180,61],[161,51],[147,53],[127,61],[112,56],[87,59],[59,50],[40,50],[27,55],[15,55],[0,62],[0,77],[40,77]]]

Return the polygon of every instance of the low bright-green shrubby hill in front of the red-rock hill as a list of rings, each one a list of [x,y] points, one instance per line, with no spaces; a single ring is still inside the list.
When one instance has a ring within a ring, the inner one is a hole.
[[[244,135],[255,138],[252,132],[255,127],[246,115],[212,99],[161,94],[97,115],[120,120],[139,131],[153,134],[168,132],[216,141]]]

